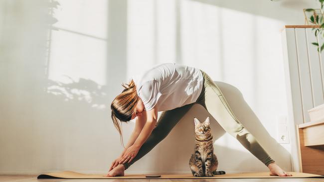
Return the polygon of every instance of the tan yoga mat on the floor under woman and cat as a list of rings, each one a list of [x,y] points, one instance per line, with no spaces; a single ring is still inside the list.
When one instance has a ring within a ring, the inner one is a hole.
[[[292,177],[278,177],[270,176],[269,172],[265,173],[237,173],[237,174],[226,174],[217,175],[214,177],[193,177],[191,174],[188,175],[161,175],[160,178],[145,178],[146,175],[129,175],[124,177],[105,177],[105,175],[86,175],[81,173],[75,173],[72,171],[64,171],[58,173],[48,173],[39,175],[37,179],[226,179],[226,178],[324,178],[324,176],[313,175],[308,173],[295,173],[289,172]],[[158,174],[155,174],[158,175]]]

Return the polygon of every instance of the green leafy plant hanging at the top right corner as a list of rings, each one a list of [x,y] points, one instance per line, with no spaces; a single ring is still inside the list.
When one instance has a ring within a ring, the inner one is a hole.
[[[319,14],[318,12],[316,12],[316,9],[305,9],[306,12],[313,12],[312,16],[309,18],[309,21],[311,23],[313,23],[314,25],[318,25],[317,27],[313,28],[313,32],[315,31],[315,36],[318,37],[322,36],[324,37],[324,19],[323,19],[323,5],[324,5],[324,0],[319,0],[321,3],[321,13]],[[317,42],[312,42],[313,45],[317,46],[317,51],[318,52],[322,52],[324,50],[324,42],[322,43],[322,45],[320,45],[319,43],[319,38],[316,39]]]

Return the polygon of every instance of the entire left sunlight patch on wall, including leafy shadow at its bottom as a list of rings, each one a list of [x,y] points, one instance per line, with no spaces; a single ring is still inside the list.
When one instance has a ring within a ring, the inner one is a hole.
[[[48,48],[47,92],[64,101],[106,108],[108,2],[59,1]]]

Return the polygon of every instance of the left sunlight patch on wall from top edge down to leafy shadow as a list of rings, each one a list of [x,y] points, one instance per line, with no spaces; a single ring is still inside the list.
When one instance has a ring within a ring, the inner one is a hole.
[[[49,48],[48,79],[68,83],[72,78],[106,84],[106,0],[64,0],[54,12]]]

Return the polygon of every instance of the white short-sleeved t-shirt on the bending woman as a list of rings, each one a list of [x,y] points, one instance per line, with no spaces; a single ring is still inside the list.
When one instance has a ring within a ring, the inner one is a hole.
[[[133,77],[146,110],[171,110],[197,100],[203,85],[199,69],[166,63]]]

